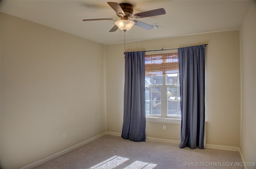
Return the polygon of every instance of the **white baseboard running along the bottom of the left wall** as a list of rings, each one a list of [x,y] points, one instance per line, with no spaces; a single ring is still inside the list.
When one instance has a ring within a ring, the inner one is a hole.
[[[101,133],[101,134],[99,134],[99,135],[96,135],[96,136],[94,136],[94,137],[92,137],[92,138],[90,138],[90,139],[87,139],[87,140],[85,140],[85,141],[82,141],[81,143],[78,143],[78,144],[73,145],[73,146],[71,146],[71,147],[68,147],[67,149],[64,149],[64,150],[62,150],[62,151],[60,151],[60,152],[58,152],[58,153],[55,153],[55,154],[53,154],[53,155],[50,155],[50,156],[48,156],[48,157],[46,157],[46,158],[44,158],[44,159],[40,159],[40,160],[38,160],[38,161],[36,161],[36,162],[34,162],[34,163],[31,163],[31,164],[29,164],[29,165],[26,165],[26,166],[24,166],[24,167],[21,167],[20,169],[31,169],[31,168],[33,168],[33,167],[36,167],[36,166],[38,166],[38,165],[40,165],[40,164],[42,164],[42,163],[45,163],[45,162],[47,162],[47,161],[50,161],[51,159],[56,158],[56,157],[58,157],[58,156],[60,156],[60,155],[62,155],[62,154],[64,154],[64,153],[67,153],[68,151],[71,151],[71,150],[73,150],[73,149],[76,149],[77,147],[80,147],[80,146],[82,146],[82,145],[84,145],[84,144],[87,144],[87,143],[89,143],[89,142],[91,142],[91,141],[93,141],[93,140],[95,140],[95,139],[98,139],[99,137],[102,137],[103,135],[106,135],[106,132]]]

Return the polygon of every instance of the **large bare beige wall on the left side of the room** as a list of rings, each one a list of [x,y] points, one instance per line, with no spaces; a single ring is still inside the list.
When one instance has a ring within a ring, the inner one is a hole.
[[[1,14],[1,168],[105,132],[105,93],[104,45]]]

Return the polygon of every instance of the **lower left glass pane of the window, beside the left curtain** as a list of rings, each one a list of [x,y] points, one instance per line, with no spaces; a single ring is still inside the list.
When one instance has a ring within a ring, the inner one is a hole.
[[[161,115],[161,88],[145,87],[146,115]]]

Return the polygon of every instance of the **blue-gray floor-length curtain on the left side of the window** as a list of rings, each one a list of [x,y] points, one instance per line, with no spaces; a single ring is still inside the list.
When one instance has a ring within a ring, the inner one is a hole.
[[[125,52],[122,138],[146,141],[145,52]]]

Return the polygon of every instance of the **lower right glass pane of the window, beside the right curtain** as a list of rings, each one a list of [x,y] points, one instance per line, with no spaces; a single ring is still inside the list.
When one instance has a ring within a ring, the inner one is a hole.
[[[179,87],[167,87],[167,115],[181,116]]]

